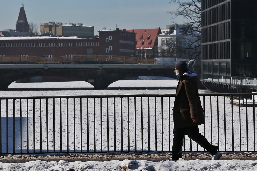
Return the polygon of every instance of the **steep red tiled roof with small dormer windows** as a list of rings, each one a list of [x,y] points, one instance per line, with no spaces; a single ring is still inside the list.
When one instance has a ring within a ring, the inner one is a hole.
[[[134,31],[136,33],[136,49],[145,49],[145,47],[152,49],[157,43],[157,35],[161,34],[160,27],[157,29],[132,29],[126,31]]]

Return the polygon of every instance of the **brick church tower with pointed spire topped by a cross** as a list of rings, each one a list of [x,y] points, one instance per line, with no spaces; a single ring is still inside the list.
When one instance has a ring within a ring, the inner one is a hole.
[[[23,2],[21,3],[21,9],[20,9],[18,21],[16,22],[16,31],[17,32],[30,32],[30,26],[27,21]]]

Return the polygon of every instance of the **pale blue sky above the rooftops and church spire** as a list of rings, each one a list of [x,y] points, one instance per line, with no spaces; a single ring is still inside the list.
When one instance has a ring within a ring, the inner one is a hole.
[[[28,22],[38,25],[49,21],[83,23],[94,26],[94,34],[105,27],[115,29],[166,28],[182,19],[172,20],[167,11],[177,6],[170,0],[1,0],[0,31],[15,29],[21,2]]]

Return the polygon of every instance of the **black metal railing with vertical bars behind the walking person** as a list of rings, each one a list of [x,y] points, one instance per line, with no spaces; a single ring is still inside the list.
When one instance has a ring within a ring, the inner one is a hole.
[[[252,95],[253,100],[240,96]],[[256,93],[200,94],[200,133],[219,151],[254,151]],[[171,151],[174,94],[0,98],[0,153]],[[231,104],[230,104],[231,103]],[[236,106],[238,104],[238,106]],[[183,151],[205,151],[184,138]]]

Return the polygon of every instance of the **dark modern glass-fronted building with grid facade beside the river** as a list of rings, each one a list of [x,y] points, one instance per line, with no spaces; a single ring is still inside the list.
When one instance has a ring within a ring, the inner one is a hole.
[[[238,92],[233,80],[257,78],[257,1],[202,0],[201,83]]]

